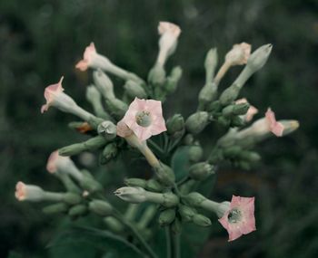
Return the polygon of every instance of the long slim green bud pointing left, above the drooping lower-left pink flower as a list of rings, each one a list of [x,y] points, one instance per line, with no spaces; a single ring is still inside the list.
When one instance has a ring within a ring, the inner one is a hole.
[[[103,136],[96,136],[81,143],[75,143],[58,150],[61,156],[73,156],[86,150],[94,150],[103,147],[107,140]]]

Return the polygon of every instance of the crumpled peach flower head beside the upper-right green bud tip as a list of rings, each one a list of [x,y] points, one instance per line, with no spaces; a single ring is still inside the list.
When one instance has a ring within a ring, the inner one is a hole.
[[[251,45],[249,43],[234,44],[231,51],[226,53],[225,62],[231,65],[242,65],[247,62],[251,54]]]

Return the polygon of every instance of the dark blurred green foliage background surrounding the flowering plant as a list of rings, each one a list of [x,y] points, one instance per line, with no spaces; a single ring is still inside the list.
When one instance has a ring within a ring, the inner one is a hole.
[[[20,257],[18,253],[21,257],[71,257],[45,248],[67,220],[42,215],[41,205],[17,203],[14,198],[17,180],[60,189],[45,172],[46,159],[52,150],[83,139],[67,129],[67,122],[74,119],[71,116],[54,109],[40,114],[45,86],[65,75],[66,92],[91,109],[84,101],[90,72],[75,71],[84,47],[93,41],[98,52],[145,78],[157,53],[157,24],[166,20],[183,30],[168,67],[180,64],[184,77],[165,105],[165,117],[194,111],[209,48],[216,46],[223,59],[234,43],[244,41],[253,49],[263,43],[273,43],[274,48],[269,62],[247,82],[242,95],[261,113],[271,106],[277,118],[301,123],[293,135],[259,146],[263,155],[259,167],[220,171],[212,196],[216,200],[230,199],[232,194],[256,196],[258,230],[228,244],[226,232],[214,221],[199,257],[317,257],[317,14],[316,0],[0,1],[0,256],[6,257],[11,250],[12,257]],[[234,68],[221,89],[240,70]],[[205,148],[211,148],[223,133],[213,126],[206,129]],[[79,158],[79,166],[84,167],[86,159]],[[100,177],[114,177],[119,164],[111,164],[107,171],[111,175],[103,176],[103,171]],[[92,166],[94,170],[97,162]],[[122,178],[116,180],[121,185]],[[102,257],[81,245],[76,252],[86,258]]]

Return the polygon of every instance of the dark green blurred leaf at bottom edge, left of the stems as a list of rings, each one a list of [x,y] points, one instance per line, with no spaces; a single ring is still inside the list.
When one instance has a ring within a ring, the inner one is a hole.
[[[126,241],[122,236],[106,230],[83,226],[76,226],[58,234],[47,245],[47,248],[53,249],[53,257],[93,258],[96,257],[97,252],[101,251],[114,251],[119,254],[119,257],[145,256],[134,244]],[[114,253],[110,254],[111,257],[117,256]]]

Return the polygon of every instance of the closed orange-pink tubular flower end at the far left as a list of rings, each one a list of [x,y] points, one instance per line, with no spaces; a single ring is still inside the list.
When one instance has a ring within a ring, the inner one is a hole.
[[[44,198],[45,191],[39,186],[25,185],[18,182],[15,186],[15,198],[18,201],[40,201]]]

